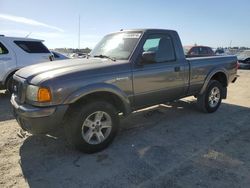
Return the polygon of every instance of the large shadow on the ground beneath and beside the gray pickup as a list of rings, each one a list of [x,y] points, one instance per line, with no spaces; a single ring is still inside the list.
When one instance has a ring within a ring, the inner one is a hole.
[[[187,172],[194,169],[205,173],[190,173],[194,183],[200,179],[206,182],[213,174],[211,170],[219,166],[215,163],[204,167],[200,156],[216,148],[223,155],[230,155],[227,152],[231,150],[224,147],[225,140],[239,130],[250,132],[249,112],[247,107],[222,104],[216,113],[204,114],[196,110],[194,101],[159,105],[123,119],[114,143],[96,154],[75,151],[63,137],[30,136],[20,148],[20,165],[29,187],[131,187],[142,183],[178,187],[183,183],[181,178],[187,181]],[[249,146],[249,139],[246,142]],[[234,158],[240,161],[237,152],[244,151],[239,145],[234,147]],[[194,163],[196,160],[199,162]],[[249,161],[247,156],[244,162],[250,166]],[[230,170],[231,166],[224,165],[224,169]],[[168,176],[156,183],[159,174],[175,175],[174,170],[180,182]],[[154,181],[148,181],[150,178]]]

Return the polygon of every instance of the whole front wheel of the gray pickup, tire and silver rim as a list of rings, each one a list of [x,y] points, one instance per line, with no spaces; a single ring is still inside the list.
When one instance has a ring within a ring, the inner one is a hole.
[[[108,147],[118,126],[118,112],[113,105],[96,101],[73,107],[65,122],[65,133],[76,149],[94,153]]]

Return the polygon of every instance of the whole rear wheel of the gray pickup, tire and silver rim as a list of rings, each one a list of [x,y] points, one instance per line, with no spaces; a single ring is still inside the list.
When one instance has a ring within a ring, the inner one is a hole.
[[[211,80],[206,91],[197,98],[197,105],[203,112],[213,113],[220,104],[222,97],[222,85],[217,80]]]

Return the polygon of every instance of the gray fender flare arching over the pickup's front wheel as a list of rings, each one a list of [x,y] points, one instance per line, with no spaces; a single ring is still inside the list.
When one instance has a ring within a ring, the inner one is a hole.
[[[73,104],[76,101],[78,101],[79,99],[89,95],[89,94],[94,94],[94,93],[98,93],[98,92],[107,92],[110,94],[114,94],[115,96],[117,96],[124,107],[125,110],[125,115],[131,113],[131,104],[130,101],[127,97],[127,95],[118,87],[116,87],[115,85],[111,85],[111,84],[107,84],[107,83],[96,83],[96,84],[91,84],[91,85],[87,85],[85,87],[82,87],[76,91],[74,91],[73,93],[71,93],[66,100],[64,100],[64,104]]]

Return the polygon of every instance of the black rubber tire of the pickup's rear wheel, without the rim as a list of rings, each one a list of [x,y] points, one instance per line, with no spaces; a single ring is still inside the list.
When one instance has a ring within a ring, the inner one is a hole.
[[[215,112],[220,104],[221,104],[221,97],[222,97],[222,85],[220,82],[218,82],[217,80],[211,80],[208,83],[207,89],[206,91],[202,94],[202,95],[198,95],[197,98],[197,107],[199,110],[206,112],[206,113],[213,113]],[[219,100],[218,102],[216,102],[216,104],[212,105],[211,102],[209,102],[209,96],[212,92],[213,89],[217,88],[219,90]]]

